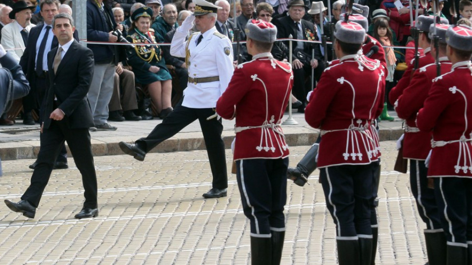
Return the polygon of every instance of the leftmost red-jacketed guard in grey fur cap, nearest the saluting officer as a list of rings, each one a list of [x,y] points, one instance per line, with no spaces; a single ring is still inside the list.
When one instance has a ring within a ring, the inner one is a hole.
[[[252,61],[237,66],[216,103],[221,117],[236,117],[236,179],[244,214],[251,222],[253,265],[280,264],[285,236],[289,149],[280,124],[293,73],[290,64],[270,53],[276,35],[271,23],[248,22],[246,46]]]

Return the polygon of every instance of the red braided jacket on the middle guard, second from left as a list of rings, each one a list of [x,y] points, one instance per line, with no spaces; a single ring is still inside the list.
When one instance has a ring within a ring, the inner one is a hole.
[[[382,113],[385,74],[378,60],[359,54],[324,70],[305,109],[308,124],[321,129],[319,168],[379,159],[373,121]]]

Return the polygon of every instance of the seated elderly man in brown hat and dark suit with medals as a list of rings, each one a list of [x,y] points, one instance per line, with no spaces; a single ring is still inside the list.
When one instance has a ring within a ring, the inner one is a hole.
[[[303,0],[292,0],[288,7],[288,16],[273,21],[273,24],[277,27],[277,38],[288,38],[289,35],[292,35],[294,39],[298,40],[318,40],[313,23],[302,19],[306,11]],[[288,43],[287,47],[289,47]],[[314,60],[311,59],[313,47],[315,49]],[[312,68],[315,70],[315,79],[320,79],[324,70],[322,62],[323,56],[321,55],[320,45],[312,45],[306,42],[294,42],[292,52],[294,71],[294,87],[292,93],[299,101],[305,102],[308,91],[313,89],[313,87],[310,87],[311,82],[305,82],[305,80],[311,75]],[[299,56],[297,56],[297,54]],[[308,57],[304,62],[300,60],[302,55]],[[305,104],[299,106],[298,112],[304,112],[305,106]]]

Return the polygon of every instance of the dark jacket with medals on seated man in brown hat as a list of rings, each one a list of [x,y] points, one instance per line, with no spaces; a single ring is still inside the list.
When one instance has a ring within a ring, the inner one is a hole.
[[[285,17],[273,20],[272,23],[277,27],[277,38],[278,39],[288,38],[290,34],[292,34],[294,39],[296,39],[295,21],[293,21],[290,16],[285,16]],[[313,23],[302,19],[300,21],[300,24],[301,24],[301,30],[303,32],[303,39],[304,40],[308,40],[308,38],[305,34],[307,29],[311,30],[315,34],[315,37],[318,40],[318,37],[317,37],[318,35],[316,34],[315,25],[313,25]],[[285,45],[287,45],[287,47],[289,47],[289,42],[286,42]],[[318,60],[322,60],[323,56],[321,56],[320,45],[312,45],[312,44],[308,44],[308,43],[305,42],[303,51],[305,53],[310,54],[310,57],[311,57],[311,50],[312,50],[313,47],[315,47],[315,58],[318,59]],[[295,51],[295,48],[296,48],[296,43],[294,42],[292,44],[292,52]],[[292,59],[293,60],[296,59],[295,55],[293,55]]]

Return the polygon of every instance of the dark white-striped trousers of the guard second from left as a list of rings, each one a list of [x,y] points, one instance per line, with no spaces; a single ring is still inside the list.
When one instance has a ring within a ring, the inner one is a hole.
[[[365,165],[338,165],[321,169],[326,207],[336,224],[337,239],[371,236],[375,161]]]

